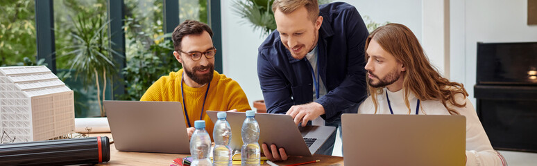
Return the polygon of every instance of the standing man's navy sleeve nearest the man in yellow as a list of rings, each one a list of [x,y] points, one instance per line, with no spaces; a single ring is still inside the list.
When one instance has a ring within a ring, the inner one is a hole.
[[[278,73],[266,53],[259,50],[257,57],[257,76],[263,91],[267,113],[286,113],[293,105],[291,99],[291,84],[287,83],[282,73]]]

